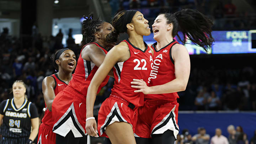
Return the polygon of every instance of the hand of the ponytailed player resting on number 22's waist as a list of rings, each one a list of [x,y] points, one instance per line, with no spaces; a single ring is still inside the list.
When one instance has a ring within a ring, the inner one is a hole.
[[[143,79],[133,79],[131,82],[132,87],[140,90],[135,90],[134,92],[143,92],[143,94],[149,94],[149,87],[146,85],[146,82]]]

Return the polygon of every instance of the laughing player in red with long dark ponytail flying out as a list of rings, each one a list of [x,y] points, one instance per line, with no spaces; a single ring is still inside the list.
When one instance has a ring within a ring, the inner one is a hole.
[[[174,14],[160,14],[152,25],[154,39],[154,63],[150,73],[149,87],[146,82],[135,79],[131,82],[134,92],[145,94],[144,106],[139,108],[135,130],[139,144],[174,144],[179,132],[178,91],[184,91],[190,75],[190,57],[185,46],[174,40],[177,32],[183,33],[193,43],[207,51],[214,41],[213,23],[197,10],[185,9]],[[138,86],[135,86],[138,85]],[[149,138],[152,138],[149,139]]]

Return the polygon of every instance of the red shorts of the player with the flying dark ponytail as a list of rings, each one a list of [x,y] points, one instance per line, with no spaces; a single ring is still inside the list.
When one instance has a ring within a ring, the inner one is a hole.
[[[144,101],[144,106],[138,108],[138,121],[135,137],[151,138],[152,134],[162,134],[172,130],[177,139],[178,127],[177,101],[150,100]]]

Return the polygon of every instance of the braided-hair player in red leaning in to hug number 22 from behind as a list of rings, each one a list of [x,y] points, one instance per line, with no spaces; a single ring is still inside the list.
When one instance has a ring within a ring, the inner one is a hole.
[[[110,23],[93,20],[93,14],[84,16],[84,18],[82,23],[84,36],[92,43],[81,49],[78,64],[69,85],[57,94],[52,103],[53,132],[56,133],[56,144],[84,143],[81,138],[86,133],[87,88],[106,56],[106,48],[112,48],[116,43],[116,41],[106,41],[108,34],[114,29]],[[97,92],[107,84],[108,79],[109,76],[104,77]]]

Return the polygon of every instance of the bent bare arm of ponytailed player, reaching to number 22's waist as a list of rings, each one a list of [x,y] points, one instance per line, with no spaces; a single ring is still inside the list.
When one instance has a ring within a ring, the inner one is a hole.
[[[190,75],[190,57],[185,46],[176,44],[172,47],[172,57],[175,65],[176,79],[162,85],[148,87],[142,80],[134,79],[132,86],[140,89],[134,92],[143,92],[144,94],[167,94],[172,92],[184,91],[187,87],[188,78]]]

